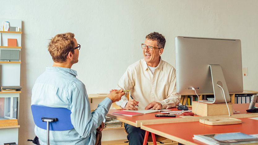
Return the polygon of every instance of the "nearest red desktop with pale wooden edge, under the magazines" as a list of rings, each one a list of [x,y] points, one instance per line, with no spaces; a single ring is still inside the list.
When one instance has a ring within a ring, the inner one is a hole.
[[[157,135],[177,141],[183,144],[200,144],[205,145],[198,140],[193,139],[193,135],[215,134],[215,133],[230,133],[242,132],[248,135],[258,134],[258,120],[249,118],[239,118],[242,124],[234,125],[218,125],[210,126],[195,122],[178,122],[166,124],[142,125],[141,129],[153,132]]]

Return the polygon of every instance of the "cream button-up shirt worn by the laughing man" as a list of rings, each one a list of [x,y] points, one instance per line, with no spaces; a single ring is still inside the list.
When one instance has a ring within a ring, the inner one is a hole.
[[[152,74],[147,63],[141,59],[131,64],[121,79],[116,89],[130,90],[135,101],[139,101],[138,108],[145,108],[150,102],[160,102],[162,109],[175,107],[180,102],[181,95],[176,93],[176,71],[175,68],[161,60]],[[126,95],[116,102],[118,106],[125,109],[128,99]],[[129,97],[131,99],[131,97]]]

